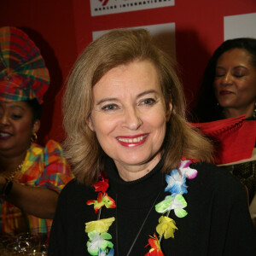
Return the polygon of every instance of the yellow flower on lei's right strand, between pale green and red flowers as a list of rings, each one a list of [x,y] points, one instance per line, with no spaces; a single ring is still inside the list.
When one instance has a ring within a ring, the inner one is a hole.
[[[174,238],[174,231],[177,230],[175,221],[172,218],[161,216],[159,223],[160,224],[156,226],[157,233],[160,236],[164,235],[166,239],[170,237]]]

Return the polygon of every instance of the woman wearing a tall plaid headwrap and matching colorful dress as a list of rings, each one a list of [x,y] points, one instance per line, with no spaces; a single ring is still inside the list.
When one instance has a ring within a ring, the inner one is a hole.
[[[71,175],[59,143],[35,143],[48,69],[20,29],[0,28],[0,47],[0,232],[49,234]]]

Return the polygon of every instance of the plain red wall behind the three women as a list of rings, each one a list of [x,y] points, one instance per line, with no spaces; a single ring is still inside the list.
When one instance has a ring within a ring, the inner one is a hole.
[[[98,0],[95,0],[98,1]],[[17,26],[32,38],[49,67],[41,141],[61,141],[61,96],[68,72],[92,40],[93,31],[175,22],[177,62],[185,95],[195,103],[201,75],[213,50],[224,40],[224,16],[256,12],[255,0],[175,0],[175,6],[115,15],[90,16],[89,0],[2,1],[0,26]]]

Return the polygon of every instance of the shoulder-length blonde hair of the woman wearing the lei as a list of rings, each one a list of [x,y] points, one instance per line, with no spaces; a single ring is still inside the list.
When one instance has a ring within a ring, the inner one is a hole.
[[[165,164],[162,172],[177,168],[182,157],[210,162],[212,144],[189,127],[185,119],[183,88],[173,61],[155,46],[144,29],[117,29],[92,42],[79,56],[67,81],[63,97],[64,142],[67,159],[80,183],[91,185],[104,168],[103,152],[96,134],[86,123],[93,106],[93,86],[113,67],[131,61],[152,61],[160,79],[166,106],[172,102],[162,145]]]

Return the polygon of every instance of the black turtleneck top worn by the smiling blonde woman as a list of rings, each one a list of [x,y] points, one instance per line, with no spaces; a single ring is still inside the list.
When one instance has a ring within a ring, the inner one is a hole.
[[[125,182],[113,163],[108,159],[108,195],[117,204],[114,209],[102,208],[101,218],[115,217],[108,230],[113,236],[114,255],[125,256],[143,220],[154,201],[162,201],[166,195],[165,175],[160,172],[162,163],[154,167],[145,177]],[[161,248],[171,255],[255,255],[256,235],[247,209],[244,189],[229,172],[206,163],[191,166],[198,171],[195,179],[187,179],[188,194],[183,197],[188,202],[188,215],[177,218],[173,211],[170,218],[176,221],[174,238],[163,239]],[[49,238],[49,255],[90,255],[87,252],[88,236],[84,232],[85,223],[96,220],[93,206],[86,201],[96,200],[94,188],[71,181],[61,191],[54,223]],[[154,235],[160,213],[154,207],[143,230],[132,247],[130,255],[148,253],[148,238]],[[118,234],[118,239],[116,234]]]

